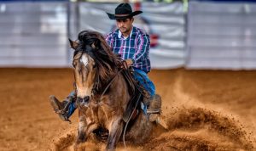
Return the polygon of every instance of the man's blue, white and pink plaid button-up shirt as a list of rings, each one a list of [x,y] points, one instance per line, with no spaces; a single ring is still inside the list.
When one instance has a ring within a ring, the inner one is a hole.
[[[106,41],[113,48],[113,53],[120,54],[122,59],[132,59],[133,67],[146,73],[150,71],[150,41],[146,32],[133,26],[130,36],[125,38],[117,29],[108,34]]]

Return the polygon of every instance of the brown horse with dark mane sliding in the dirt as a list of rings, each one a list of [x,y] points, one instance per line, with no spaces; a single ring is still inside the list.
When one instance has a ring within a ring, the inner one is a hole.
[[[125,62],[111,51],[99,32],[81,31],[77,41],[69,42],[74,49],[79,108],[75,148],[97,130],[108,130],[106,150],[114,150],[122,134],[123,138],[139,139],[137,143],[143,143],[154,123],[140,109],[138,100],[142,100],[143,89],[137,87]],[[131,119],[134,120],[129,123]]]

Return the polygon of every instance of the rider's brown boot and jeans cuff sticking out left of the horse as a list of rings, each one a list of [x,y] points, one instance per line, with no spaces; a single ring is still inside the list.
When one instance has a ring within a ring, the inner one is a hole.
[[[55,113],[58,114],[61,120],[69,121],[68,118],[73,114],[73,111],[76,109],[75,105],[75,93],[71,93],[67,99],[62,102],[59,101],[55,96],[49,96],[49,103],[52,108],[55,110]]]

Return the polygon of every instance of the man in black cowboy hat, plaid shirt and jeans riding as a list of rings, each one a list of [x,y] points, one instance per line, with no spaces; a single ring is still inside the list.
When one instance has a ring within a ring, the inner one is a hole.
[[[131,5],[121,3],[115,8],[115,14],[108,14],[110,20],[116,20],[118,29],[112,31],[106,37],[108,45],[113,49],[113,53],[119,54],[125,60],[128,66],[134,70],[134,78],[147,90],[149,98],[144,98],[142,109],[146,113],[160,113],[160,104],[158,107],[148,109],[147,107],[152,100],[160,102],[160,96],[155,94],[155,88],[152,81],[148,78],[150,71],[148,34],[133,26],[133,16],[143,13],[142,11],[132,12]],[[49,102],[55,112],[61,117],[61,120],[68,120],[77,108],[76,93],[71,92],[66,100],[60,102],[55,96],[50,96]]]

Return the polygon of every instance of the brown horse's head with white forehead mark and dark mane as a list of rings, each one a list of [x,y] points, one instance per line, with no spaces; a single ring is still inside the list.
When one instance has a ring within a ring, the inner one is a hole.
[[[120,60],[108,47],[105,38],[96,31],[81,31],[78,41],[71,40],[77,96],[85,98],[101,92],[111,76],[117,72]]]

